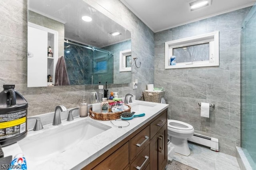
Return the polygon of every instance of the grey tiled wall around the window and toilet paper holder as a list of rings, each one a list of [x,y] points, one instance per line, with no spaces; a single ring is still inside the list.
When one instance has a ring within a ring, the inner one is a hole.
[[[220,152],[240,146],[240,33],[250,7],[155,33],[154,84],[166,89],[168,117],[190,123],[195,132],[218,138]],[[220,66],[164,69],[164,42],[220,31]],[[199,102],[215,104],[210,118]]]

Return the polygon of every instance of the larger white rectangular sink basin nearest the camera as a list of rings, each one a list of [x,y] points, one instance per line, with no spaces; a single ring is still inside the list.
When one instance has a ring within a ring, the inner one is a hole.
[[[92,119],[64,123],[58,126],[46,125],[38,133],[32,131],[34,135],[28,135],[18,142],[28,164],[45,162],[111,128]]]

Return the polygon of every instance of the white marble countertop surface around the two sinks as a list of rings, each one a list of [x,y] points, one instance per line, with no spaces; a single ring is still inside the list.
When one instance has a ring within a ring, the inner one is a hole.
[[[144,101],[134,100],[133,104],[136,104],[138,102],[144,103]],[[128,135],[132,134],[134,131],[136,131],[138,128],[140,128],[142,125],[153,119],[156,115],[161,113],[164,109],[168,108],[168,104],[159,104],[159,103],[152,103],[152,102],[146,102],[147,104],[154,104],[156,106],[154,107],[148,107],[148,109],[143,109],[143,113],[146,115],[143,117],[136,117],[134,119],[128,120],[130,125],[128,127],[118,128],[114,127],[110,121],[98,121],[100,123],[103,123],[105,125],[110,126],[111,128],[100,133],[99,135],[96,135],[95,137],[92,137],[83,143],[78,143],[75,146],[72,146],[70,149],[66,150],[65,152],[59,153],[57,156],[54,156],[53,158],[50,158],[46,162],[37,164],[37,162],[30,162],[29,159],[26,159],[28,170],[40,170],[40,169],[47,169],[47,170],[56,170],[56,169],[62,169],[62,170],[68,170],[68,169],[81,169],[96,158],[112,148],[114,145],[125,139]],[[131,111],[135,111],[136,113],[142,113],[141,109],[140,111],[136,111],[135,109],[131,109]],[[49,113],[46,113],[44,115],[47,115]],[[42,116],[44,116],[42,115]],[[40,117],[40,115],[38,115]],[[52,117],[52,114],[50,114],[48,117]],[[42,119],[42,118],[41,118]],[[75,123],[76,121],[80,119],[92,119],[89,116],[85,118],[81,117],[74,117],[73,122],[67,122],[66,120],[62,120],[62,124],[65,123]],[[44,122],[44,120],[42,120]],[[49,126],[49,127],[48,127]],[[44,129],[47,128],[58,128],[58,126],[52,126],[44,125]],[[28,136],[31,136],[35,133],[43,133],[44,129],[40,131],[28,131]],[[26,138],[26,137],[25,137]],[[23,140],[23,139],[22,139]],[[2,147],[4,151],[4,156],[12,155],[13,158],[16,154],[22,153],[22,149],[19,146],[18,143],[14,143],[12,145]],[[35,148],[36,152],[36,148]],[[26,155],[25,155],[26,158]]]

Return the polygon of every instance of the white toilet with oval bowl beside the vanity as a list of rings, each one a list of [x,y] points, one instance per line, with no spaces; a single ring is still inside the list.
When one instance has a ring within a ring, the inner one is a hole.
[[[174,146],[174,152],[190,155],[188,138],[194,134],[194,127],[188,123],[168,119],[168,138]]]

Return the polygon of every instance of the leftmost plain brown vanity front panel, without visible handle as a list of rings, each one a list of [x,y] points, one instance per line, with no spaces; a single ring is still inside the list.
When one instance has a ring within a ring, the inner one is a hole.
[[[123,170],[129,164],[129,142],[100,162],[93,170],[114,170],[116,167]]]

